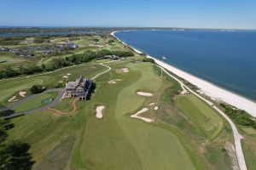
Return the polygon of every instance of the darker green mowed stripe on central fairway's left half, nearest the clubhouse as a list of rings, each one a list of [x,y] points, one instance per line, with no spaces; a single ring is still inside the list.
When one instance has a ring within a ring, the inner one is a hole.
[[[127,62],[116,64],[122,67]],[[120,77],[115,71],[110,72],[110,77]],[[98,78],[96,94],[93,96],[90,106],[84,108],[86,115],[86,127],[83,142],[80,148],[80,156],[88,169],[142,169],[136,150],[115,119],[115,107],[119,91],[137,81],[139,75],[125,77],[128,80],[122,85],[109,84]],[[103,119],[96,119],[96,105],[105,105]]]

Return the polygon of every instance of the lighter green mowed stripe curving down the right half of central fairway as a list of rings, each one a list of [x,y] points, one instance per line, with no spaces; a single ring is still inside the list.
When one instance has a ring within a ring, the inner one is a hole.
[[[119,126],[137,150],[143,169],[195,169],[183,145],[171,132],[129,115],[143,107],[146,97],[137,90],[158,93],[163,82],[150,64],[127,65],[130,72],[140,72],[140,79],[119,92],[115,116]],[[125,83],[127,80],[125,79]],[[128,102],[129,101],[129,102]],[[128,114],[128,115],[127,115]]]

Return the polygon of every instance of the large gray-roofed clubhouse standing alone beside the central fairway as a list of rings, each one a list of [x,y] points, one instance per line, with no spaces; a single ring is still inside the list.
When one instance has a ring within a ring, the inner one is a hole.
[[[91,80],[85,77],[79,77],[75,82],[67,82],[66,96],[86,100],[90,95],[92,83]]]

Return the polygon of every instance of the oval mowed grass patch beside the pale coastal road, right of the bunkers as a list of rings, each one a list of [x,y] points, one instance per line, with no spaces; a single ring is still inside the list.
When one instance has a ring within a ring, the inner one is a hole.
[[[224,125],[218,113],[193,94],[179,96],[177,107],[195,121],[209,139],[215,138]]]

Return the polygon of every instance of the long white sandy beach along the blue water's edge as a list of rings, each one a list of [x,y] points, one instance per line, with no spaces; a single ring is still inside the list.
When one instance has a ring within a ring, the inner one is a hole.
[[[113,31],[111,35],[115,37],[119,42],[122,42],[124,45],[129,46],[132,48],[137,54],[143,54],[143,52],[137,50],[136,48],[127,45],[125,42],[120,40],[118,37],[114,35],[118,31]],[[227,89],[220,88],[217,85],[212,84],[212,82],[207,82],[199,77],[195,77],[186,71],[182,71],[170,64],[166,64],[160,59],[155,59],[153,56],[147,54],[147,57],[150,59],[154,59],[157,65],[164,67],[167,71],[171,71],[173,74],[177,75],[178,77],[183,78],[184,80],[192,83],[197,88],[200,88],[203,94],[211,97],[212,99],[216,99],[218,101],[223,101],[230,105],[234,105],[236,108],[247,111],[247,113],[253,117],[256,117],[256,103],[250,99],[247,99],[239,94],[235,94],[230,92]]]

